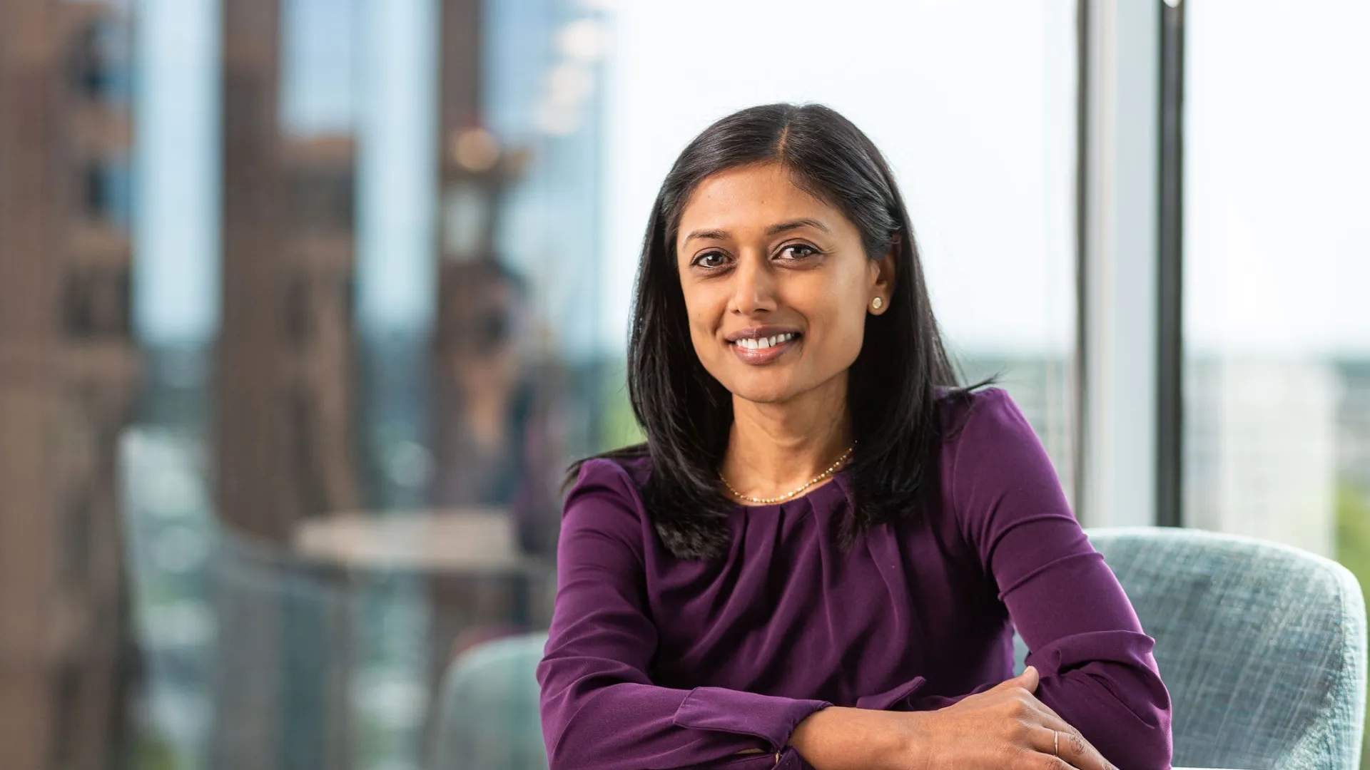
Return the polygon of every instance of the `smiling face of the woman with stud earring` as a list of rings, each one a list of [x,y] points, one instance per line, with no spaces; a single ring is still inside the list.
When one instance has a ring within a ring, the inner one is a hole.
[[[844,384],[866,314],[889,310],[893,256],[869,259],[856,226],[774,163],[706,178],[675,255],[695,353],[749,401]]]

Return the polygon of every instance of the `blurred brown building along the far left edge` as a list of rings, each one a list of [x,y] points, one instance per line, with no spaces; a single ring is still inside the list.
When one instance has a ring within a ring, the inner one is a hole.
[[[129,18],[0,0],[0,755],[107,767],[126,600],[114,447],[129,322]]]

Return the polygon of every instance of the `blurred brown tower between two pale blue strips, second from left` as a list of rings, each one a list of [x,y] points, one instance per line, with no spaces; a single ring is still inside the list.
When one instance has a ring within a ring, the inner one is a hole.
[[[355,508],[353,141],[279,119],[281,7],[223,5],[223,316],[218,477],[226,523],[284,544]]]

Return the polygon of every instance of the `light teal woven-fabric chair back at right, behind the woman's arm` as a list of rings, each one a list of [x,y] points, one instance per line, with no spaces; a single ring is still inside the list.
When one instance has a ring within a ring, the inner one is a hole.
[[[1192,529],[1088,534],[1156,640],[1177,767],[1359,767],[1366,614],[1345,567]]]

